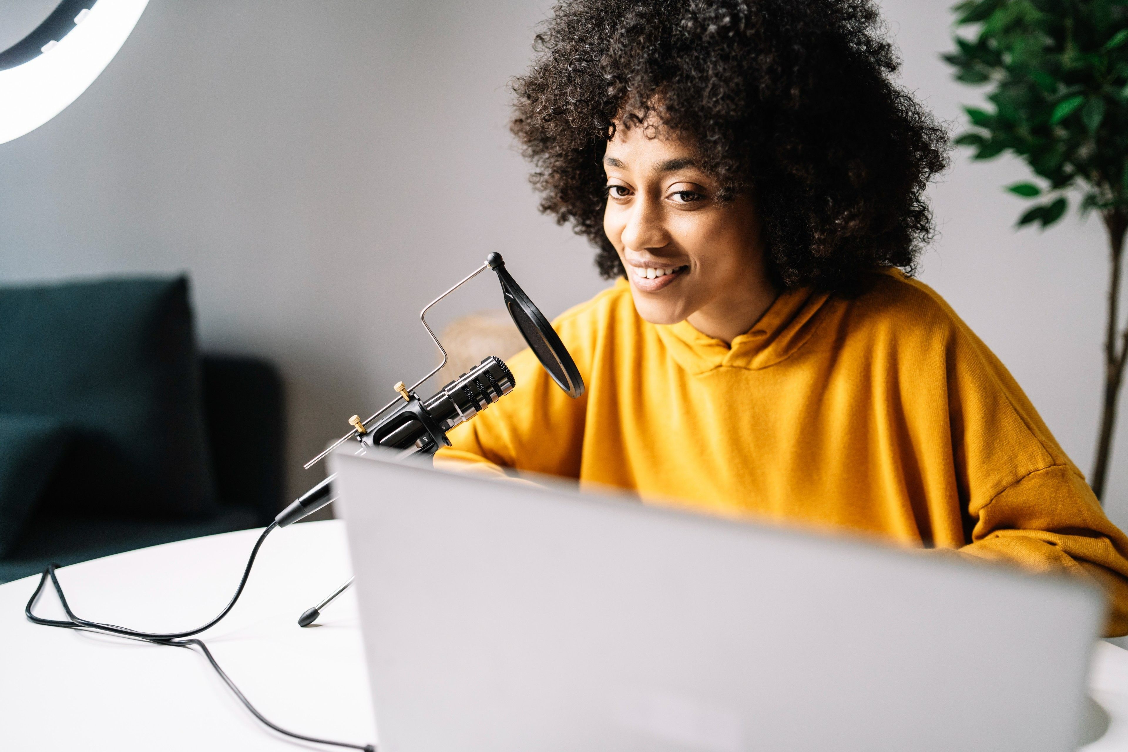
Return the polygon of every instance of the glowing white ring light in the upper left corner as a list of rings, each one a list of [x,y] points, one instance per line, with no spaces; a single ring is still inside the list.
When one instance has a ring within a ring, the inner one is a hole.
[[[0,52],[0,143],[61,113],[109,64],[149,0],[63,0]]]

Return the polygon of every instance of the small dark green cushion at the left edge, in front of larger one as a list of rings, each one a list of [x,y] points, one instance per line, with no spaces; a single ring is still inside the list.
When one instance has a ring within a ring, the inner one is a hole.
[[[65,441],[63,424],[56,418],[0,415],[0,557],[19,536]]]

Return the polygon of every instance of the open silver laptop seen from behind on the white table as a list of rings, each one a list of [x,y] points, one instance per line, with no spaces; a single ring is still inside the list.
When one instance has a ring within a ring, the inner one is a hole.
[[[381,752],[1076,747],[1101,595],[338,450]]]

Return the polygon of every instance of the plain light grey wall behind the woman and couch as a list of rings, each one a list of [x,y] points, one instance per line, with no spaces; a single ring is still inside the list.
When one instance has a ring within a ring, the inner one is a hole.
[[[957,118],[977,92],[938,59],[950,3],[882,5],[904,81]],[[487,251],[505,254],[549,316],[602,285],[588,247],[537,214],[505,130],[505,81],[527,64],[547,8],[151,0],[74,105],[0,145],[0,280],[188,271],[204,346],[281,365],[291,490],[301,490],[319,477],[301,461],[347,416],[433,364],[417,311]],[[1014,161],[955,160],[933,191],[942,236],[922,277],[998,353],[1087,472],[1102,230],[1070,218],[1043,235],[1014,232],[1023,204],[1002,186],[1022,176]],[[437,320],[496,306],[493,281],[475,284]],[[1121,525],[1122,439],[1108,493]]]

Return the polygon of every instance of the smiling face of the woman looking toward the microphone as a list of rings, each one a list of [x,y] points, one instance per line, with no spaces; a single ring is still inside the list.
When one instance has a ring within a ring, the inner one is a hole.
[[[775,300],[747,193],[721,203],[695,151],[645,125],[617,123],[607,143],[603,231],[618,251],[638,315],[651,324],[688,319],[732,342]]]

